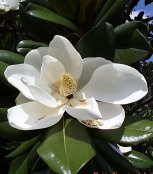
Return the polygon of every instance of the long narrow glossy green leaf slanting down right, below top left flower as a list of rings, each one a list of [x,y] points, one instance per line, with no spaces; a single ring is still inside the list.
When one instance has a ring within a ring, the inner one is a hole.
[[[36,17],[38,19],[46,20],[58,25],[62,25],[74,31],[79,31],[78,28],[68,19],[59,16],[52,12],[51,10],[31,10],[27,11],[30,16]]]

